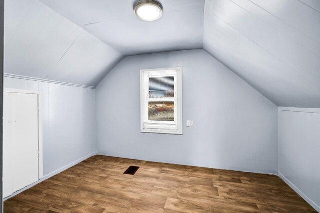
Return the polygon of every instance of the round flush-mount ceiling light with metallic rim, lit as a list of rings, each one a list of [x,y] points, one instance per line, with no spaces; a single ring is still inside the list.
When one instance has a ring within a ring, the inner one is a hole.
[[[162,15],[162,5],[155,0],[139,0],[134,4],[134,14],[145,21],[154,21]]]

